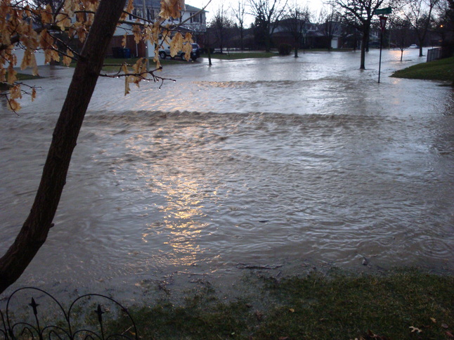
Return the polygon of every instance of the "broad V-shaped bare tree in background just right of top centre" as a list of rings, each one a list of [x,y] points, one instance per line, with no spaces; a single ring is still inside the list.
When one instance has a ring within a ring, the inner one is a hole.
[[[271,50],[271,37],[285,14],[287,0],[248,0],[254,16],[255,34],[263,40],[265,50]]]

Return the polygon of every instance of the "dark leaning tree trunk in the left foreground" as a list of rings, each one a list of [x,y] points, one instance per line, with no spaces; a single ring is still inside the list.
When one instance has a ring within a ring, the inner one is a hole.
[[[37,195],[14,243],[0,259],[0,293],[12,285],[46,241],[66,183],[72,151],[126,0],[101,0],[67,91]]]

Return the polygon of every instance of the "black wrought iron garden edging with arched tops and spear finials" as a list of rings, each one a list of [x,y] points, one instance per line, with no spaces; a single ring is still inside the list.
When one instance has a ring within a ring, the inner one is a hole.
[[[65,309],[42,289],[20,288],[9,296],[0,316],[0,340],[138,340],[127,308],[102,294],[79,296]],[[125,325],[122,332],[110,334],[109,325],[119,320]]]

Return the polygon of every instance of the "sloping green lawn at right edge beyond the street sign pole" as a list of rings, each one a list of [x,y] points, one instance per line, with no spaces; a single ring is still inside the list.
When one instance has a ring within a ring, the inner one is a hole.
[[[394,72],[391,77],[453,81],[454,57],[413,65]]]

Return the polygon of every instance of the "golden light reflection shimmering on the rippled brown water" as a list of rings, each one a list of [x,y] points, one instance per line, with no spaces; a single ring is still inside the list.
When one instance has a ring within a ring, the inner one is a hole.
[[[203,252],[199,238],[208,224],[202,222],[205,218],[202,202],[207,198],[207,193],[202,188],[205,181],[200,171],[194,171],[194,159],[188,152],[191,144],[197,143],[197,138],[194,138],[197,133],[184,131],[181,137],[187,148],[181,150],[179,157],[173,155],[172,162],[167,157],[153,160],[151,156],[157,152],[156,139],[165,145],[168,142],[166,135],[165,131],[157,136],[154,133],[149,136],[137,134],[127,140],[128,152],[134,154],[138,161],[134,162],[138,181],[145,183],[141,190],[144,195],[159,197],[159,202],[150,199],[153,202],[148,203],[148,209],[153,207],[160,216],[159,223],[156,220],[148,223],[141,234],[141,240],[143,243],[153,240],[150,243],[155,246],[155,236],[161,234],[160,244],[162,249],[166,249],[168,260],[189,266],[196,261],[197,254]],[[159,176],[157,168],[160,169]]]

